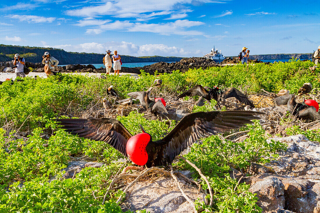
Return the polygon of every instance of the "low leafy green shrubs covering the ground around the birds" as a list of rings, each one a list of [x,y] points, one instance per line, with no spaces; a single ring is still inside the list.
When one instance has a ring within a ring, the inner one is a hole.
[[[106,202],[102,204],[108,185],[121,165],[114,162],[123,156],[103,142],[78,138],[57,130],[52,121],[57,117],[80,117],[84,113],[90,116],[88,112],[94,106],[102,109],[101,101],[106,97],[109,85],[114,85],[121,98],[127,98],[128,92],[147,90],[156,78],[163,80],[157,94],[172,96],[196,84],[209,87],[219,85],[222,88],[234,86],[249,93],[260,89],[277,92],[285,88],[294,93],[305,82],[319,87],[319,68],[311,72],[308,69],[311,65],[309,61],[293,60],[272,65],[212,67],[185,73],[174,71],[159,76],[142,72],[139,79],[129,76],[100,79],[62,74],[47,79],[25,78],[23,82],[13,85],[4,82],[0,85],[0,212],[123,212],[116,204],[123,194],[121,190],[109,191]],[[193,112],[212,111],[215,104],[211,101],[210,104],[194,107]],[[177,124],[171,120],[147,120],[136,111],[117,119],[132,134],[141,132],[138,126],[141,124],[154,140],[162,138]],[[28,138],[17,139],[17,130],[29,131]],[[256,195],[248,191],[249,185],[238,184],[236,179],[230,177],[229,170],[241,170],[249,176],[252,163],[268,163],[286,146],[280,142],[267,142],[265,131],[258,122],[241,130],[249,130],[249,138],[243,142],[212,136],[194,144],[185,155],[208,177],[214,193],[213,206],[198,200],[195,202],[198,209],[216,213],[261,212],[256,205]],[[53,132],[49,139],[41,137]],[[300,131],[298,127],[287,130],[288,135],[298,133],[305,134],[310,140],[320,140],[318,131]],[[64,172],[61,170],[72,158],[84,155],[104,162],[105,166],[88,167],[73,179],[63,179]],[[176,162],[174,167],[190,169],[193,178],[200,179],[197,172],[182,160]],[[204,180],[201,186],[203,189],[208,187]]]

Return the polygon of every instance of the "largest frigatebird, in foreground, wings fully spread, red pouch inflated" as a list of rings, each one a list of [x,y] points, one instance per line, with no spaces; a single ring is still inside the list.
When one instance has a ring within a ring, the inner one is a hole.
[[[164,138],[153,141],[145,132],[132,136],[124,125],[111,118],[101,119],[56,119],[62,129],[96,141],[104,141],[132,162],[147,167],[166,166],[188,146],[200,138],[227,132],[259,119],[253,111],[212,111],[197,112],[184,116],[177,126]]]

